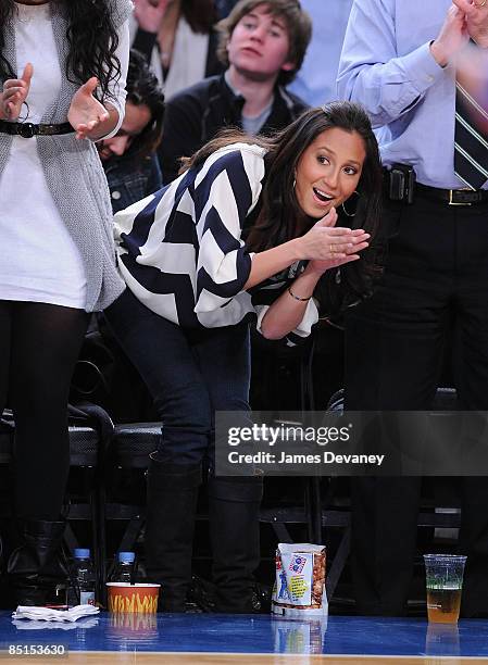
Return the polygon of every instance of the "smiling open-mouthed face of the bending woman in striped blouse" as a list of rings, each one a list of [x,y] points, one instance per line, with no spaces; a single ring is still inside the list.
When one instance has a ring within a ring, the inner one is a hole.
[[[325,129],[297,164],[295,193],[303,212],[321,218],[349,199],[361,178],[366,150],[356,131]]]

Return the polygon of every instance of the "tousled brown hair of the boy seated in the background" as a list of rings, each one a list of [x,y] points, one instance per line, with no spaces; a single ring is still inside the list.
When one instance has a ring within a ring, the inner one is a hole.
[[[324,0],[325,2],[326,0]],[[278,83],[287,86],[300,70],[306,53],[306,48],[312,37],[312,21],[309,14],[301,8],[299,0],[240,0],[230,11],[226,18],[220,21],[216,28],[220,33],[217,57],[227,67],[227,45],[233,36],[236,25],[247,14],[251,13],[260,4],[266,4],[272,16],[283,18],[288,28],[290,50],[288,60],[295,63],[290,72],[281,71]]]

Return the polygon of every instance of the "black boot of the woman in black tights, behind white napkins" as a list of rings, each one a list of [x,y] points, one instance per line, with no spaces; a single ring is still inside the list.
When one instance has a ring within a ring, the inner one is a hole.
[[[61,560],[64,522],[26,519],[22,544],[9,557],[7,572],[15,605],[65,604],[67,573]]]

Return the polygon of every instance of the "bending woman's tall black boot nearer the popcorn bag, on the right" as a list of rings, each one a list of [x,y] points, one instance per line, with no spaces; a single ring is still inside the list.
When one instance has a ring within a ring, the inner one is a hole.
[[[209,522],[216,611],[259,611],[253,573],[260,563],[261,478],[209,478]]]

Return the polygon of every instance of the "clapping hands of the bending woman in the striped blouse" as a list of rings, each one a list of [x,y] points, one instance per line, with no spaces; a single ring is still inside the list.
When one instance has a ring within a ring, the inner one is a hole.
[[[309,260],[309,271],[323,273],[331,267],[358,261],[360,251],[368,246],[370,234],[362,228],[336,227],[337,212],[333,208],[304,236],[298,238],[301,259]]]

